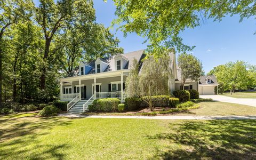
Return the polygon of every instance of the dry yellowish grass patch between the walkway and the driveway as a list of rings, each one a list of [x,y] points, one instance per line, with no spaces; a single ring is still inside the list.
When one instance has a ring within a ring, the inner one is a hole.
[[[200,102],[197,109],[190,109],[177,115],[197,115],[197,116],[255,116],[256,107],[239,105],[226,102]]]

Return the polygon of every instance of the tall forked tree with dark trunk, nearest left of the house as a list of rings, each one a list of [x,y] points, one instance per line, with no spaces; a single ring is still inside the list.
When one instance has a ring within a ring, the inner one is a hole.
[[[46,70],[51,56],[50,46],[57,31],[67,26],[67,23],[76,27],[77,23],[89,23],[95,21],[95,11],[91,0],[41,0],[41,4],[36,9],[36,21],[42,27],[45,38],[45,48],[43,53],[44,63],[40,78],[40,88],[45,89]],[[61,33],[61,32],[60,32]]]

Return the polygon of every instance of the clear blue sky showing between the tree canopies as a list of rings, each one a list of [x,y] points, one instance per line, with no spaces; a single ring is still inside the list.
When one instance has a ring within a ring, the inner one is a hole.
[[[37,3],[37,2],[36,2]],[[113,1],[94,0],[97,22],[109,27],[115,19],[115,5]],[[195,45],[192,51],[202,61],[205,73],[214,66],[225,64],[229,61],[243,60],[256,65],[256,21],[253,18],[245,19],[239,23],[239,17],[223,18],[221,22],[206,20],[201,26],[186,29],[181,33],[183,42]],[[146,49],[147,44],[142,44],[144,39],[132,33],[124,38],[121,31],[111,31],[121,41],[119,46],[124,48],[124,53]]]

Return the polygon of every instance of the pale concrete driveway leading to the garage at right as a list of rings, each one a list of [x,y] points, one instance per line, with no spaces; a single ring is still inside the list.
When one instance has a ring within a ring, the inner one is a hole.
[[[211,98],[213,101],[217,102],[237,103],[241,105],[256,107],[256,99],[250,98],[232,98],[224,95],[200,95],[200,98]]]

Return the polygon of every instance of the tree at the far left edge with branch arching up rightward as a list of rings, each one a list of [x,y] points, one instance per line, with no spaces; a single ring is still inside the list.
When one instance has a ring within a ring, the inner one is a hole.
[[[27,20],[31,16],[33,1],[30,0],[0,0],[0,107],[2,103],[3,82],[3,52],[5,31],[20,20]]]

